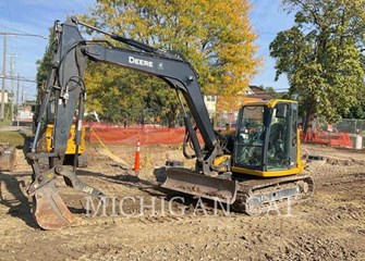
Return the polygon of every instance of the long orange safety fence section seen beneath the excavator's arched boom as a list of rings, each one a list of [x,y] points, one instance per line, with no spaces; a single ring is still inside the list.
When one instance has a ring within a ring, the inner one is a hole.
[[[168,128],[159,126],[108,126],[104,124],[86,125],[86,139],[89,142],[119,144],[135,146],[142,145],[178,145],[182,144],[185,127]],[[200,136],[200,135],[198,135]],[[202,140],[202,137],[199,137]]]

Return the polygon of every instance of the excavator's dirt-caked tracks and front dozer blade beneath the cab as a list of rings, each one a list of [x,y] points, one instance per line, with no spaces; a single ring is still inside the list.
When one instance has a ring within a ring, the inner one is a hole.
[[[248,215],[261,214],[272,204],[277,208],[285,200],[295,202],[314,194],[314,181],[306,174],[273,178],[207,176],[182,167],[170,167],[161,187],[232,204],[235,211]]]

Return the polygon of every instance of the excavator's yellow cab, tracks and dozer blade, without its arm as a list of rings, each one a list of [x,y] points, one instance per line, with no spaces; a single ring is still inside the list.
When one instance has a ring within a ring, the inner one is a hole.
[[[260,100],[243,102],[229,151],[217,156],[202,175],[186,169],[169,169],[165,188],[219,200],[250,215],[265,213],[272,202],[313,195],[314,182],[302,174],[297,102]],[[228,177],[228,178],[227,178]]]

